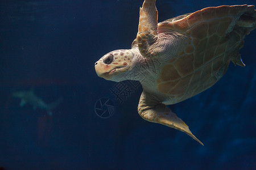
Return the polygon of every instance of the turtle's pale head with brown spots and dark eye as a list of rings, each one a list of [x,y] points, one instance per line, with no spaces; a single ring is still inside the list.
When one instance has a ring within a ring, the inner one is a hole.
[[[114,82],[126,80],[133,58],[134,54],[131,50],[114,50],[105,54],[95,63],[96,73],[98,76]]]

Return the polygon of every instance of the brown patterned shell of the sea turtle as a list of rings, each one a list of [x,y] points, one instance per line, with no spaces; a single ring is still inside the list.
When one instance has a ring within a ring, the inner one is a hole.
[[[185,45],[163,66],[158,90],[182,101],[211,87],[240,58],[243,39],[255,28],[254,6],[208,7],[158,24],[158,33],[181,34]],[[253,18],[253,17],[254,18]]]

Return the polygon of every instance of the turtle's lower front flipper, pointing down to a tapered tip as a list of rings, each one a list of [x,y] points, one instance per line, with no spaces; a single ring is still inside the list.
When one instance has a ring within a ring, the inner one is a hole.
[[[139,99],[138,112],[144,120],[183,131],[201,145],[204,145],[195,137],[195,135],[191,133],[188,125],[177,117],[176,114],[171,111],[171,109],[166,107],[166,105],[159,103],[157,99],[144,91],[142,92],[141,99]]]

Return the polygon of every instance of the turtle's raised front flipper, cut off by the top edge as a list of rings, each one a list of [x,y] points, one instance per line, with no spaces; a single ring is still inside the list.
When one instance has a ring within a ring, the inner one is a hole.
[[[149,47],[157,39],[158,10],[156,10],[155,1],[145,0],[139,11],[137,42],[139,51],[146,58],[154,56],[154,52],[149,50]]]

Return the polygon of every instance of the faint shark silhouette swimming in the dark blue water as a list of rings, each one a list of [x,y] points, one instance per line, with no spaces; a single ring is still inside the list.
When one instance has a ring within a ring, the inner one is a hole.
[[[14,97],[20,98],[20,107],[23,107],[25,104],[32,105],[33,109],[40,108],[46,109],[47,113],[52,116],[52,109],[56,108],[57,105],[63,101],[62,98],[50,103],[46,104],[39,96],[36,96],[34,93],[34,88],[31,88],[30,91],[16,91],[13,92]]]

